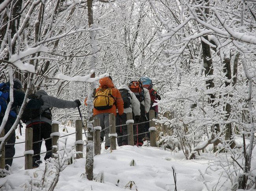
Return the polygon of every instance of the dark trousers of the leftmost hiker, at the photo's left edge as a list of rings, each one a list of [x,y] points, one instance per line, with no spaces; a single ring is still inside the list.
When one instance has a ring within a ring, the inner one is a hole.
[[[0,119],[0,124],[2,124],[2,119]],[[4,126],[4,135],[6,135],[8,133],[8,131],[11,129],[11,127],[13,126],[15,122],[14,118],[8,117],[6,125]],[[15,155],[15,147],[14,144],[15,143],[15,131],[13,131],[13,133],[11,133],[11,135],[9,136],[9,139],[6,142],[7,144],[12,144],[12,145],[6,145],[5,148],[5,157],[6,158],[11,158],[11,159],[6,159],[5,163],[8,164],[9,166],[11,166],[11,164],[13,163],[13,156]]]

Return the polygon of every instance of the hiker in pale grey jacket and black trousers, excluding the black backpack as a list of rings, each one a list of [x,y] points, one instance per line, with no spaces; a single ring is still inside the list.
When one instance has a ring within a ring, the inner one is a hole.
[[[134,114],[134,121],[139,122],[139,117],[141,115],[141,109],[140,109],[140,104],[139,100],[136,98],[135,94],[130,91],[130,88],[127,85],[121,85],[119,88],[119,91],[122,92],[122,89],[126,89],[128,93],[130,94],[130,106],[127,108],[124,108],[124,113],[123,115],[119,115],[117,113],[116,116],[116,125],[123,125],[126,124],[127,116],[126,113],[132,113]],[[116,133],[117,136],[122,136],[122,135],[127,135],[127,126],[121,126],[116,128]],[[118,146],[123,146],[128,144],[128,136],[123,136],[117,138],[117,144]]]

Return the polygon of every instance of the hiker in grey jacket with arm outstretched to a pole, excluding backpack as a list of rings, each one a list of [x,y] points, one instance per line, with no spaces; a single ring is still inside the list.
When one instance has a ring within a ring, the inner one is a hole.
[[[41,107],[41,117],[32,119],[31,121],[26,122],[26,128],[33,128],[33,142],[49,138],[52,133],[52,115],[50,112],[51,107],[57,108],[76,108],[81,105],[79,100],[67,101],[61,100],[54,96],[49,96],[45,90],[38,90],[35,93],[37,96],[41,96],[41,99],[44,101],[44,105]],[[34,155],[39,154],[41,151],[42,142],[33,144]],[[45,160],[52,156],[52,140],[45,140],[46,151]],[[36,168],[41,163],[40,155],[33,156],[33,168]]]

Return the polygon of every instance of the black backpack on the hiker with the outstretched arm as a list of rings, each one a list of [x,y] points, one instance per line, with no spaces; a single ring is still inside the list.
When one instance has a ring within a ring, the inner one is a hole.
[[[44,105],[44,101],[42,100],[41,96],[37,96],[35,94],[30,94],[28,96],[30,99],[27,103],[22,115],[21,120],[22,122],[26,123],[30,120],[33,120],[34,118],[38,118],[40,115],[45,116],[45,112],[42,112],[41,108]],[[48,116],[45,116],[47,118],[51,118],[51,114],[46,114]]]

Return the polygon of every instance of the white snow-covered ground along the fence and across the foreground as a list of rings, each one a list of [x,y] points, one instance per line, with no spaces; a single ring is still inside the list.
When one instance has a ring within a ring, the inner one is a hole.
[[[67,127],[68,133],[63,132],[63,126],[59,127],[61,136],[75,132],[75,128]],[[23,142],[25,139],[25,129],[22,129],[22,136],[16,130],[19,139],[16,142]],[[67,138],[68,137],[68,138]],[[67,147],[71,147],[75,142],[75,134],[67,136]],[[61,145],[65,139],[60,138]],[[102,148],[104,148],[102,146]],[[15,145],[15,156],[22,156],[24,144]],[[41,152],[45,151],[44,142]],[[174,175],[176,173],[176,187],[178,191],[207,191],[210,190],[229,190],[231,187],[228,176],[223,173],[223,169],[218,166],[216,154],[202,153],[197,160],[186,160],[180,151],[174,153],[165,151],[157,147],[132,147],[122,146],[111,152],[101,151],[101,155],[94,158],[94,177],[102,173],[104,182],[89,181],[85,173],[85,149],[84,158],[74,160],[73,164],[68,165],[59,178],[55,191],[121,191],[128,182],[133,181],[135,185],[131,190],[138,191],[174,191]],[[254,149],[254,156],[256,155]],[[41,155],[41,159],[45,154]],[[131,161],[135,161],[134,166],[130,166]],[[255,158],[252,159],[252,168],[256,167]],[[0,178],[1,191],[15,190],[24,191],[29,182],[41,180],[45,169],[45,163],[37,169],[24,170],[24,157],[15,158],[11,167],[12,174]],[[217,170],[218,169],[218,170]],[[199,170],[204,175],[200,175]],[[53,173],[52,173],[53,174]],[[222,176],[221,176],[222,174]],[[48,178],[50,179],[50,178]],[[47,178],[45,178],[47,182]],[[118,183],[117,183],[118,182]],[[32,190],[37,187],[33,186]],[[41,190],[41,189],[40,189]],[[43,189],[47,190],[47,189]],[[129,190],[129,188],[126,188]]]

